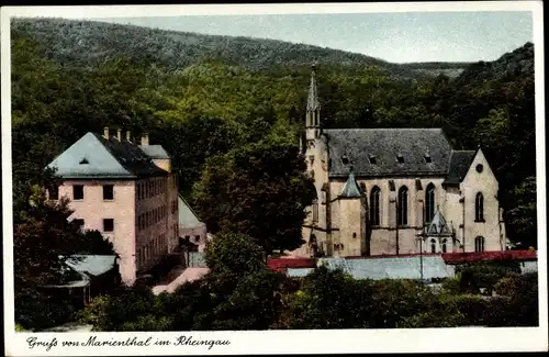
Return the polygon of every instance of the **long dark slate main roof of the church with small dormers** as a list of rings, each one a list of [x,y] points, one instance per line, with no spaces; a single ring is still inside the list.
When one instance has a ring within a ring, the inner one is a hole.
[[[441,129],[330,129],[330,177],[447,175],[451,147]]]

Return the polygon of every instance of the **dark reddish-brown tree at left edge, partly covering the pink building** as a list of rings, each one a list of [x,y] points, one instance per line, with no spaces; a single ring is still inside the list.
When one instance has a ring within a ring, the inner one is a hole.
[[[114,252],[99,232],[82,234],[67,220],[72,213],[68,201],[46,201],[38,186],[20,193],[18,209],[25,211],[13,226],[15,321],[29,330],[45,328],[71,315],[70,303],[42,289],[63,280],[64,260],[72,254]]]

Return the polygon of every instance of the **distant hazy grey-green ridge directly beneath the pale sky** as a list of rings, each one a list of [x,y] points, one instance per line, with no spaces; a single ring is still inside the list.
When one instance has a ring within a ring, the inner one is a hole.
[[[16,19],[14,33],[26,33],[57,62],[93,67],[116,57],[184,68],[205,58],[253,70],[292,68],[317,62],[324,67],[377,66],[392,79],[445,74],[455,77],[466,63],[399,65],[362,54],[283,41],[155,30],[125,24],[63,19]]]

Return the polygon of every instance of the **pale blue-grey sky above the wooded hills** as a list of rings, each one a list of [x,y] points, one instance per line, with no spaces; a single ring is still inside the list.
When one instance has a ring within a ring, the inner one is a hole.
[[[89,19],[212,35],[282,40],[392,63],[494,60],[533,42],[528,11],[256,14]]]

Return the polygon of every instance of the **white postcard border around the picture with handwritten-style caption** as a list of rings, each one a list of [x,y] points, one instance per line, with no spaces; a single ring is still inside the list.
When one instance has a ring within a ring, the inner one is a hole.
[[[536,77],[536,153],[538,198],[538,269],[539,327],[528,328],[415,328],[415,330],[347,330],[347,331],[269,331],[203,333],[94,333],[98,339],[145,338],[175,339],[192,335],[194,339],[229,339],[228,346],[170,347],[54,347],[29,349],[29,336],[41,339],[87,341],[90,333],[14,333],[13,322],[13,248],[12,178],[11,178],[11,96],[10,96],[10,18],[44,16],[67,19],[229,15],[229,14],[298,14],[360,12],[434,12],[434,11],[533,11]],[[3,183],[3,268],[4,268],[4,341],[8,356],[55,355],[178,355],[178,354],[340,354],[340,353],[440,353],[440,352],[536,352],[547,350],[547,212],[545,160],[545,87],[544,23],[541,1],[478,1],[416,3],[322,3],[322,4],[232,4],[232,5],[114,5],[114,7],[5,7],[1,9],[2,59],[2,183]],[[8,293],[9,292],[9,293]]]

